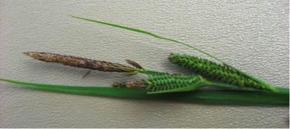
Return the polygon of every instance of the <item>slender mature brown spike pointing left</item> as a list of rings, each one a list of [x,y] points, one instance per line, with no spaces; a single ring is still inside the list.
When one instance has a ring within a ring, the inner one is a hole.
[[[110,63],[105,61],[92,60],[87,58],[75,57],[75,56],[66,56],[59,54],[52,54],[46,52],[24,52],[23,54],[30,56],[34,59],[52,62],[52,63],[60,63],[63,65],[86,68],[91,70],[105,71],[105,72],[134,72],[136,69],[117,64]]]

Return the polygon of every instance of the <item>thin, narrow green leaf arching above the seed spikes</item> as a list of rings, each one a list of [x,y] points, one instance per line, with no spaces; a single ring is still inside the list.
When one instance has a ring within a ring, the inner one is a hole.
[[[222,60],[218,59],[217,57],[215,57],[213,55],[210,55],[209,53],[204,52],[204,51],[202,51],[200,49],[197,49],[196,47],[193,47],[193,46],[191,46],[189,44],[186,44],[186,43],[183,43],[183,42],[174,40],[174,39],[161,37],[159,35],[156,35],[154,33],[151,33],[151,32],[145,31],[145,30],[140,30],[140,29],[136,29],[136,28],[126,27],[126,26],[122,26],[122,25],[117,25],[117,24],[113,24],[113,23],[108,23],[108,22],[103,22],[103,21],[98,21],[98,20],[93,20],[93,19],[88,19],[88,18],[83,18],[83,17],[77,17],[77,16],[73,16],[73,15],[69,15],[69,16],[72,16],[72,17],[75,17],[75,18],[79,18],[79,19],[83,19],[83,20],[87,20],[87,21],[92,21],[92,22],[100,23],[100,24],[110,25],[110,26],[114,26],[114,27],[118,27],[118,28],[122,28],[122,29],[127,29],[127,30],[131,30],[131,31],[139,32],[139,33],[144,33],[144,34],[151,35],[151,36],[156,37],[156,38],[159,38],[159,39],[164,39],[164,40],[168,40],[168,41],[172,41],[172,42],[175,42],[175,43],[179,43],[179,44],[185,45],[185,46],[187,46],[189,48],[192,48],[192,49],[195,49],[195,50],[197,50],[197,51],[199,51],[199,52],[201,52],[201,53],[203,53],[203,54],[205,54],[205,55],[207,55],[209,57],[212,57],[212,58],[216,59],[217,61],[221,62],[222,64],[224,64],[224,65],[226,65],[226,66],[228,66],[228,67],[236,70],[237,72],[239,72],[239,73],[241,73],[241,74],[243,74],[243,75],[251,78],[252,80],[255,80],[255,81],[259,82],[260,84],[264,85],[267,89],[269,89],[269,90],[271,90],[273,92],[278,92],[275,89],[275,87],[273,87],[273,86],[271,86],[271,85],[269,85],[269,84],[267,84],[267,83],[265,83],[265,82],[263,82],[263,81],[255,78],[255,77],[253,77],[251,75],[248,75],[245,72],[242,72],[241,70],[239,70],[239,69],[237,69],[237,68],[235,68],[235,67],[233,67],[233,66],[231,66],[231,65],[229,65],[229,64],[227,64],[225,62],[223,62]]]

